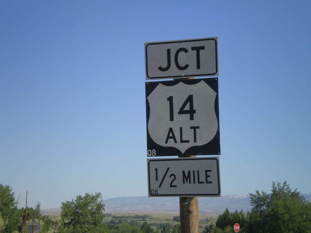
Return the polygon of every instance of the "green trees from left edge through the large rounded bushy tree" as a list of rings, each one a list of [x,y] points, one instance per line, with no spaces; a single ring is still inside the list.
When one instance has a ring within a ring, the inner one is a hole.
[[[100,193],[77,196],[76,200],[62,202],[59,216],[42,216],[40,203],[27,207],[27,223],[33,220],[41,226],[40,233],[101,233],[104,204]],[[0,233],[25,232],[26,211],[18,208],[18,201],[8,185],[0,184]]]

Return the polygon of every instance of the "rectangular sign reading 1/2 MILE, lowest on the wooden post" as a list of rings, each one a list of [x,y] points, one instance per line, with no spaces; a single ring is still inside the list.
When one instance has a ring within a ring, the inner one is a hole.
[[[149,197],[220,197],[219,157],[147,159]]]

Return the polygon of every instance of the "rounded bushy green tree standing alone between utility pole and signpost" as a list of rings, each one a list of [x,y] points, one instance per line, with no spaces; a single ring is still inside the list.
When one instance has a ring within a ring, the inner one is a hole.
[[[72,233],[99,233],[103,232],[101,224],[105,217],[103,211],[104,204],[102,203],[100,193],[88,194],[84,197],[77,196],[74,201],[62,202],[62,211],[60,213],[63,226],[61,232]]]

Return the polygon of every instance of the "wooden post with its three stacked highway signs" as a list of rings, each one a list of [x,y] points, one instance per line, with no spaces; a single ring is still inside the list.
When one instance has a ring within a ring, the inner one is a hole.
[[[179,196],[181,233],[198,233],[197,196],[220,196],[218,38],[145,43],[148,196]],[[179,79],[179,80],[176,80]],[[188,157],[188,158],[187,158]]]

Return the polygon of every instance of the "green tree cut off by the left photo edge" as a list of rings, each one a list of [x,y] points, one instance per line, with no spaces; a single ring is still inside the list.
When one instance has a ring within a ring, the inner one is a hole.
[[[21,226],[21,216],[10,186],[0,184],[0,233],[17,231]]]

